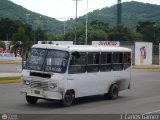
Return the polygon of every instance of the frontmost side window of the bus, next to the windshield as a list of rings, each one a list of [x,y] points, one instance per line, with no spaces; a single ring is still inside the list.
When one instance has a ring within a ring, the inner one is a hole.
[[[69,74],[78,74],[86,72],[86,53],[82,52],[79,54],[79,57],[72,55],[68,69]]]

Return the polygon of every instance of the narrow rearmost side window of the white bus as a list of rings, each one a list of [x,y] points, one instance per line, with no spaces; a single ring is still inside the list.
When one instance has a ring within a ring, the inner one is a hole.
[[[126,70],[131,66],[131,53],[125,52],[123,55],[123,63],[124,63],[124,69]]]

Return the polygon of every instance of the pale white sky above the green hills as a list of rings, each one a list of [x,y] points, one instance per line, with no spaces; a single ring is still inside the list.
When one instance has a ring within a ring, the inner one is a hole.
[[[58,20],[64,21],[76,17],[76,0],[10,0],[33,12],[37,12]],[[87,9],[88,1],[88,9]],[[160,0],[122,0],[139,1],[144,3],[158,4]],[[88,12],[117,4],[117,0],[78,0],[77,17]],[[27,13],[26,13],[27,14]]]

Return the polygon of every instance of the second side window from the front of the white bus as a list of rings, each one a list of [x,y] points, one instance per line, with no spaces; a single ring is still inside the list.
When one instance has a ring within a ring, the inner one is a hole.
[[[99,53],[89,52],[87,57],[87,72],[98,72],[99,71]]]

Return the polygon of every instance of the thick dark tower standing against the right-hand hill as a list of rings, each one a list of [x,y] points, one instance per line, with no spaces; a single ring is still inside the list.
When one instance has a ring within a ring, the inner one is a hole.
[[[122,23],[122,4],[121,0],[118,0],[117,3],[117,25],[120,25]]]

